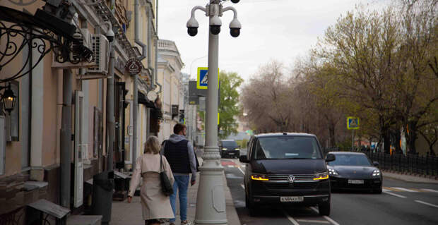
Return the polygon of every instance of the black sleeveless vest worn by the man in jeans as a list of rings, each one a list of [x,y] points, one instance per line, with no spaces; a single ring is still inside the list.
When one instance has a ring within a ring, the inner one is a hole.
[[[176,143],[167,140],[165,142],[165,157],[170,164],[172,173],[190,174],[189,149],[187,148],[188,140],[182,140]]]

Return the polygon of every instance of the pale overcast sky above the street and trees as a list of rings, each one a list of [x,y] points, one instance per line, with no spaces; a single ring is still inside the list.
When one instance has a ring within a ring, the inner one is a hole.
[[[336,23],[336,19],[352,11],[357,4],[372,4],[384,0],[241,0],[230,1],[242,23],[241,34],[230,36],[228,25],[232,11],[224,13],[219,37],[220,70],[237,72],[244,80],[256,73],[259,66],[276,59],[286,66],[297,56],[305,56],[316,44],[317,37]],[[185,66],[183,73],[196,78],[196,68],[208,65],[208,18],[196,11],[198,35],[187,34],[186,23],[191,8],[205,6],[208,0],[160,0],[158,36],[177,44]],[[374,8],[373,7],[373,8]],[[203,57],[203,58],[202,58]],[[201,59],[199,59],[201,58]]]

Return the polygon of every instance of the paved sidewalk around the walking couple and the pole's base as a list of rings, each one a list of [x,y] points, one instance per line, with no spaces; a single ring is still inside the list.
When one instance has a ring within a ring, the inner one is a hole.
[[[199,164],[202,164],[202,159],[199,157]],[[199,173],[197,175],[199,178]],[[227,221],[230,225],[240,225],[239,217],[237,216],[236,208],[234,202],[231,197],[230,189],[227,186],[227,179],[225,178],[225,174],[223,176],[224,181],[224,192],[225,192],[225,210],[227,212]],[[187,192],[187,219],[194,224],[195,213],[196,213],[196,194],[198,191],[199,180],[196,181],[194,186],[189,186],[189,190]],[[178,197],[177,197],[178,199]],[[179,224],[179,210],[178,210],[179,202],[177,202],[177,223]],[[129,204],[126,200],[123,202],[113,201],[112,202],[112,214],[111,221],[109,222],[111,225],[143,225],[144,221],[141,217],[141,203],[140,197],[134,196],[131,204]],[[166,223],[168,224],[168,223]]]

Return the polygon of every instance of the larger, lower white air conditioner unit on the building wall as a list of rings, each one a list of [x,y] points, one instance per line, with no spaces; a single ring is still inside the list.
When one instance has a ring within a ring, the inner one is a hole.
[[[107,74],[108,73],[108,58],[109,58],[109,42],[105,35],[91,35],[92,46],[94,53],[93,62],[96,66],[87,68],[85,74]]]

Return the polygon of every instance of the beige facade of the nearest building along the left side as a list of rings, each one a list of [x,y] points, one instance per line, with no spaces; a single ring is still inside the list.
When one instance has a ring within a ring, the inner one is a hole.
[[[60,62],[56,54],[60,48],[47,47],[47,53],[42,54],[41,48],[32,44],[24,44],[11,60],[4,56],[10,52],[1,52],[0,86],[11,85],[16,105],[11,114],[0,113],[0,218],[11,212],[18,215],[25,211],[25,205],[40,199],[74,213],[86,210],[93,175],[131,169],[133,159],[143,152],[151,121],[160,120],[150,114],[152,109],[161,111],[159,105],[146,97],[151,91],[164,95],[160,83],[155,82],[156,1],[65,2],[75,12],[71,19],[76,27],[73,37],[81,39],[81,48],[93,51],[92,60]],[[20,47],[23,39],[32,36],[25,33],[29,22],[24,19],[16,22],[24,28],[24,35],[5,34],[4,30],[14,28],[13,22],[4,19],[5,12],[20,11],[29,15],[22,18],[36,18],[46,4],[42,0],[0,1],[0,49],[13,46],[8,37]],[[113,42],[109,29],[114,32]],[[28,43],[49,46],[52,42],[31,39]],[[126,71],[129,59],[140,59],[138,75]],[[29,73],[9,79],[24,73],[20,68],[26,63]],[[66,159],[70,164],[64,163]],[[19,224],[24,223],[25,217]]]

